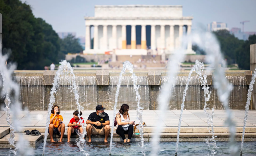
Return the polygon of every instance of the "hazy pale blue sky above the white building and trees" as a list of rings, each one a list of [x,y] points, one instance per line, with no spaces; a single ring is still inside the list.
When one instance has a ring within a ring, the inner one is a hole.
[[[256,31],[256,0],[22,0],[32,6],[36,17],[53,26],[56,32],[75,32],[85,36],[84,16],[94,16],[95,5],[182,5],[183,16],[193,16],[192,29],[212,21],[227,23],[244,31]]]

